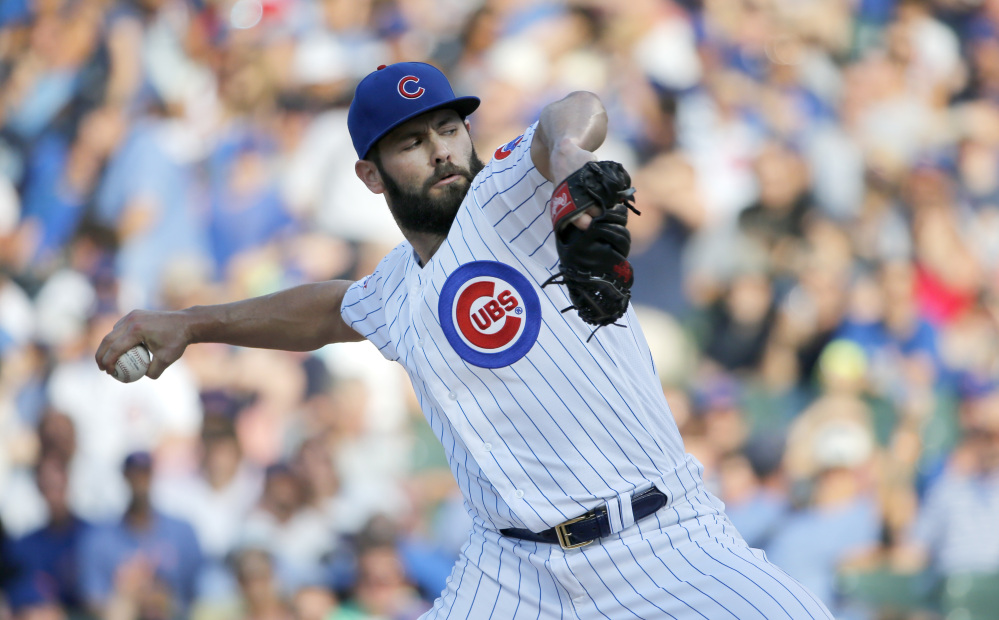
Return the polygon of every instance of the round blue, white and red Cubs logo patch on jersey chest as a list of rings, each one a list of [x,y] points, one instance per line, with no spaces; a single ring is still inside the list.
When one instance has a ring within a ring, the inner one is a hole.
[[[541,330],[541,302],[519,271],[495,261],[466,263],[444,282],[437,313],[451,348],[482,368],[524,357]]]

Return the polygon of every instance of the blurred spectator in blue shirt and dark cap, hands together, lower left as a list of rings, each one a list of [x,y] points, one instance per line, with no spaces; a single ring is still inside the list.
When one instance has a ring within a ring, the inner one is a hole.
[[[187,522],[153,508],[152,467],[146,452],[126,457],[124,474],[132,498],[124,516],[83,538],[81,586],[87,606],[100,617],[109,606],[122,604],[122,598],[137,599],[125,602],[142,607],[147,595],[158,599],[164,591],[170,595],[172,615],[184,617],[194,598],[201,549]],[[122,589],[124,582],[128,587]]]

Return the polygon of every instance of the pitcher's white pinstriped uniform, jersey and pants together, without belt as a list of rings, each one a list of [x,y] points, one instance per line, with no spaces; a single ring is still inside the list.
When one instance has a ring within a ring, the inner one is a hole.
[[[402,243],[341,307],[406,368],[474,522],[427,617],[829,617],[704,490],[633,311],[587,343],[564,287],[541,289],[558,256],[535,128],[497,149],[426,266]],[[653,484],[670,502],[635,523]],[[604,503],[615,533],[581,549],[498,532]]]

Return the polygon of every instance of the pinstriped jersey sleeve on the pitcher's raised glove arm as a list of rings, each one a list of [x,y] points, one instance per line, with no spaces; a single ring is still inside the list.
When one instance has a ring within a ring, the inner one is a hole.
[[[472,182],[470,208],[511,247],[542,263],[552,262],[554,244],[548,202],[554,186],[531,160],[538,123],[493,152]],[[550,251],[545,251],[548,247]],[[551,254],[551,256],[548,256]]]

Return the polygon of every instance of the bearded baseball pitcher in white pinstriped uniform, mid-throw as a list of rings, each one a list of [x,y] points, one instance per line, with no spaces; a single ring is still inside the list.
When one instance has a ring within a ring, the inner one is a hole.
[[[478,105],[430,65],[379,67],[347,122],[357,176],[406,241],[357,282],[133,311],[98,365],[144,343],[155,379],[197,342],[361,339],[402,364],[474,522],[426,618],[830,618],[684,452],[629,307],[634,190],[593,154],[599,99],[551,103],[487,164]]]

